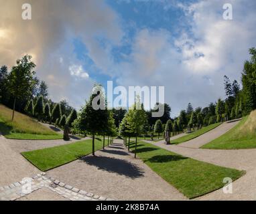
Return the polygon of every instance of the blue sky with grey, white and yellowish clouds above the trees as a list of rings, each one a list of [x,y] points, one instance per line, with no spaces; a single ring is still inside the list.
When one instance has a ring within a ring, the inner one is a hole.
[[[31,4],[31,20],[21,6]],[[231,3],[233,19],[222,17]],[[225,98],[256,47],[254,0],[0,0],[0,66],[31,54],[55,102],[92,86],[164,86],[172,116]]]

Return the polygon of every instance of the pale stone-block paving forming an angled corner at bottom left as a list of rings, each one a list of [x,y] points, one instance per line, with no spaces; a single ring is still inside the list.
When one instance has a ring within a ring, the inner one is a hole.
[[[27,181],[30,181],[29,187],[31,189],[29,189],[29,191],[27,191]],[[9,186],[0,187],[0,201],[15,201],[42,188],[50,189],[52,192],[70,201],[114,200],[101,197],[99,195],[94,195],[93,193],[87,193],[86,191],[62,183],[52,177],[48,177],[46,173],[41,173],[31,178],[25,178],[22,181],[12,183]]]

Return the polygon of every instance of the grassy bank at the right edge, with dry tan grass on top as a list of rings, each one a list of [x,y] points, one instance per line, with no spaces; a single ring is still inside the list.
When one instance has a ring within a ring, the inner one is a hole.
[[[239,149],[256,148],[256,111],[251,112],[229,132],[212,140],[202,148]]]

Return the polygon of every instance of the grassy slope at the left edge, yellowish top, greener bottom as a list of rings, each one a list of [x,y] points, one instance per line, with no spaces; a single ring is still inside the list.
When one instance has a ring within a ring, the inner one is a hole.
[[[15,112],[14,120],[11,122],[12,110],[0,104],[0,132],[6,138],[14,139],[60,139],[62,135],[57,134],[50,128],[38,123],[34,118],[25,114]]]

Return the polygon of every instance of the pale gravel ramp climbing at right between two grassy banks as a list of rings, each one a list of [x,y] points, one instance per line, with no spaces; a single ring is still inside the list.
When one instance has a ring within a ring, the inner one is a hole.
[[[188,140],[187,142],[182,142],[181,144],[179,144],[179,146],[184,146],[189,148],[200,148],[204,144],[218,138],[222,134],[225,134],[227,131],[229,131],[231,128],[237,125],[239,121],[240,120],[224,122],[219,126],[217,126],[216,128],[210,130],[209,132],[206,132],[205,134],[198,136],[197,138]]]

